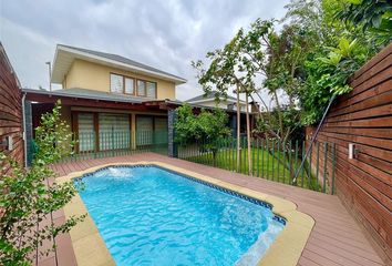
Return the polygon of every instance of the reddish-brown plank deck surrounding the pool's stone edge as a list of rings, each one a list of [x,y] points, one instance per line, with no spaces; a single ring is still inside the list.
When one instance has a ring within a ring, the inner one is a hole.
[[[250,190],[280,196],[297,204],[298,211],[312,216],[316,225],[298,262],[301,266],[379,266],[385,265],[376,254],[364,232],[350,216],[337,196],[288,186],[262,178],[250,177],[231,173],[206,165],[172,158],[155,153],[107,157],[71,163],[56,164],[53,168],[59,176],[74,171],[82,171],[92,166],[107,163],[127,163],[137,161],[159,161],[193,172],[219,178]],[[58,221],[63,218],[63,213],[54,215]],[[58,252],[55,255],[42,259],[42,265],[75,265],[70,237],[61,236],[56,239]],[[58,264],[55,263],[58,262]]]

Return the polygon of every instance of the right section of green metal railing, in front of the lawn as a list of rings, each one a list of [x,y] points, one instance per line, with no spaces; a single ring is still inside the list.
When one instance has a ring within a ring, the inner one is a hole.
[[[279,140],[251,140],[250,165],[247,139],[240,139],[239,166],[237,165],[237,140],[217,142],[195,141],[178,144],[178,157],[228,171],[252,175],[288,185],[333,194],[336,146],[316,143],[309,160],[303,163],[306,142]],[[311,158],[311,160],[310,160]],[[296,178],[296,173],[298,173]]]

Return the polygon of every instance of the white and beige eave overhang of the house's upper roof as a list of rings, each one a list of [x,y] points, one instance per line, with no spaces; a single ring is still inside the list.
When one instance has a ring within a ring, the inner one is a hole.
[[[79,51],[76,49],[72,49],[72,48],[63,47],[63,45],[56,47],[56,50],[54,53],[54,59],[53,59],[51,82],[61,84],[64,80],[65,74],[70,70],[70,68],[75,59],[81,59],[81,60],[85,60],[89,62],[94,62],[94,63],[99,63],[99,64],[103,64],[103,65],[113,66],[116,69],[132,71],[132,72],[140,73],[140,74],[146,74],[146,75],[154,76],[154,78],[162,79],[162,80],[166,80],[166,81],[172,81],[176,85],[186,83],[185,79],[180,79],[180,78],[173,76],[169,74],[164,74],[161,72],[155,72],[155,71],[143,69],[143,68],[132,65],[132,64],[122,63],[122,62],[118,62],[115,60],[106,59],[103,57],[99,57],[95,54]]]

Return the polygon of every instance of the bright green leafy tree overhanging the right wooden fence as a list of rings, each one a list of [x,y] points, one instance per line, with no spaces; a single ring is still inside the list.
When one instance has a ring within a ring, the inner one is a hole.
[[[302,54],[296,79],[301,121],[306,125],[313,124],[319,122],[333,95],[351,90],[349,78],[385,44],[385,40],[380,41],[361,24],[344,23],[338,16],[347,8],[342,0],[295,0],[286,8],[283,22],[299,27],[307,39],[312,39]]]

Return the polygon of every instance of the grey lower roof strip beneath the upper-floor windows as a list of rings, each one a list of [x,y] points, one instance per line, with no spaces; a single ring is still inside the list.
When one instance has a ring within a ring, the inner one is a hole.
[[[107,93],[107,92],[93,91],[93,90],[79,89],[79,88],[62,89],[62,90],[54,90],[54,91],[22,89],[22,91],[27,93],[92,99],[92,100],[101,100],[101,101],[127,102],[127,103],[143,103],[143,102],[156,101],[155,99],[151,99],[151,98],[135,98],[135,96],[128,96],[124,94]]]

